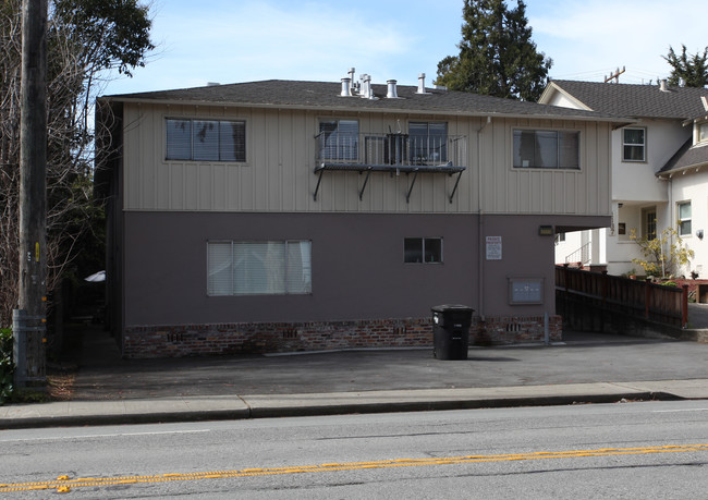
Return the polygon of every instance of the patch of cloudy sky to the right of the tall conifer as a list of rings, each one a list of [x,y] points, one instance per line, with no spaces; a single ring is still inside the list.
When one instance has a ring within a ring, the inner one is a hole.
[[[685,44],[693,53],[708,45],[707,13],[708,4],[688,0],[570,0],[530,11],[528,19],[557,77],[600,80],[626,66],[620,82],[639,83],[668,76],[661,56],[670,46]]]

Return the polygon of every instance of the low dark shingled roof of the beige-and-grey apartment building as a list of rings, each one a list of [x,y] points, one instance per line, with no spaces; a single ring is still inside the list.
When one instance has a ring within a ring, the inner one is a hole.
[[[472,93],[398,86],[399,98],[386,97],[386,85],[371,85],[376,99],[341,97],[341,83],[268,80],[175,90],[101,97],[113,102],[162,102],[223,106],[321,109],[333,111],[415,112],[456,115],[506,115],[562,118],[617,122],[617,115],[557,106],[480,96]]]

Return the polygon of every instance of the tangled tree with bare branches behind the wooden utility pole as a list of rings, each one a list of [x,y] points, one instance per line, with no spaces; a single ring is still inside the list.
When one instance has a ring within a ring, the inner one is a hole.
[[[0,2],[0,326],[17,303],[21,0]],[[130,75],[154,48],[138,0],[50,0],[47,37],[47,290],[101,216],[93,199],[94,101],[111,70]]]

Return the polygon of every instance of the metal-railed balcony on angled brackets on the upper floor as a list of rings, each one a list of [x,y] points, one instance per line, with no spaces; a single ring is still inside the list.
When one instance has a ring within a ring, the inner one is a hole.
[[[419,173],[456,175],[449,200],[452,203],[465,171],[467,137],[463,135],[410,135],[403,133],[373,134],[321,132],[315,136],[317,157],[315,173],[318,175],[314,199],[326,171],[355,171],[366,173],[359,190],[359,200],[371,172],[413,174],[406,203]]]

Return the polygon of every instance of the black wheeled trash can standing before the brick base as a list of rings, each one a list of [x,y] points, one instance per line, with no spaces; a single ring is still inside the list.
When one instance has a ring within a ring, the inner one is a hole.
[[[438,359],[466,359],[473,308],[444,304],[432,307],[432,355]]]

